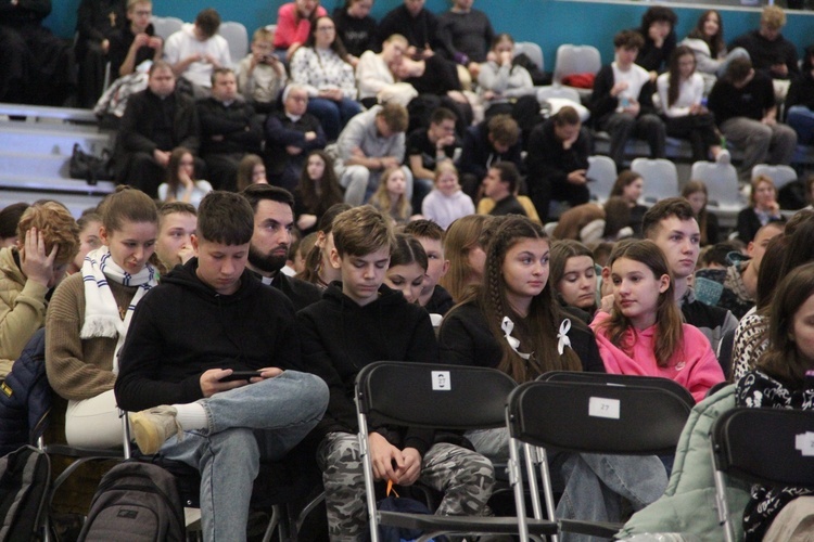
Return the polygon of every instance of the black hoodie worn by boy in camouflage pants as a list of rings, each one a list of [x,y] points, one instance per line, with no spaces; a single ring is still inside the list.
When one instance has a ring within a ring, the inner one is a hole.
[[[321,435],[356,433],[354,384],[361,367],[374,361],[437,363],[438,347],[430,314],[407,302],[400,292],[379,288],[379,297],[360,307],[332,283],[319,302],[297,313],[303,340],[303,367],[320,376],[330,389],[328,411],[317,426]],[[370,420],[370,430],[381,433],[399,448],[421,455],[432,444],[432,431],[386,428]]]

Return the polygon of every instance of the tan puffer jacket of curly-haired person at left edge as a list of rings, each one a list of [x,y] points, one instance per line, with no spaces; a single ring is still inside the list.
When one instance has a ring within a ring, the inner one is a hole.
[[[17,258],[16,248],[0,250],[0,378],[9,374],[34,332],[46,323],[48,287],[27,280]]]

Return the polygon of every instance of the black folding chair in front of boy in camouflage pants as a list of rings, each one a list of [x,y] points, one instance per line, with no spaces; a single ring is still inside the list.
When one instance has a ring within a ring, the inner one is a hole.
[[[516,384],[495,369],[429,363],[380,361],[365,366],[356,377],[356,410],[359,421],[359,448],[365,470],[370,538],[379,541],[379,525],[419,529],[419,540],[445,533],[518,533],[521,540],[557,532],[552,521],[519,521],[524,515],[523,499],[516,499],[518,517],[460,517],[405,514],[377,509],[373,470],[368,453],[368,416],[384,423],[467,430],[505,426],[505,405]],[[510,473],[517,483],[518,472]],[[522,495],[522,493],[521,493]]]

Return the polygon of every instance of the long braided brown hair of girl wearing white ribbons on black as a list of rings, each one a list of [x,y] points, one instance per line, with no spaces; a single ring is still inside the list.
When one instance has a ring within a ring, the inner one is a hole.
[[[489,330],[503,350],[498,369],[518,383],[533,380],[547,371],[582,371],[582,362],[571,348],[565,348],[562,356],[557,351],[558,326],[563,317],[554,299],[550,280],[543,292],[532,298],[526,317],[517,313],[506,297],[503,273],[506,254],[517,243],[529,238],[548,242],[543,228],[525,217],[510,216],[503,220],[486,249],[483,283],[476,295]],[[520,340],[519,349],[531,352],[527,360],[518,356],[506,340],[501,328],[504,317],[514,323],[512,336]]]

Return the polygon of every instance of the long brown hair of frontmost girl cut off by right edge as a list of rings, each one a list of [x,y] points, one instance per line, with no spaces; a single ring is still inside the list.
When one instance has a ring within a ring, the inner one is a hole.
[[[793,388],[802,388],[805,372],[814,369],[811,360],[800,356],[794,341],[794,315],[814,295],[814,263],[793,269],[780,282],[768,319],[768,349],[756,366],[773,378]]]

